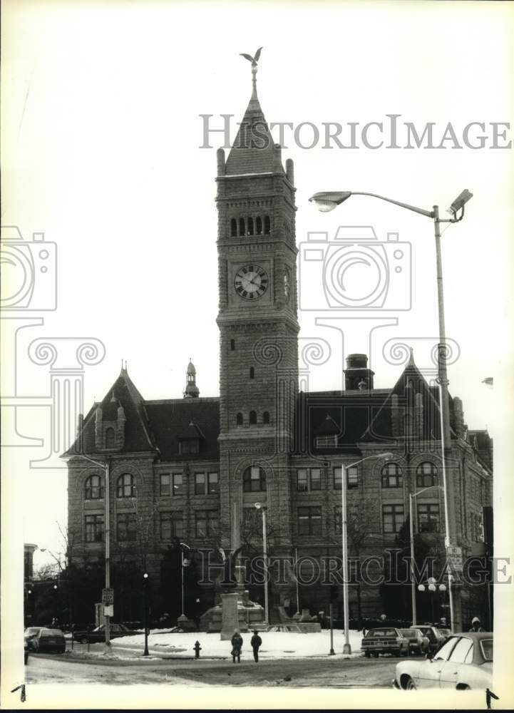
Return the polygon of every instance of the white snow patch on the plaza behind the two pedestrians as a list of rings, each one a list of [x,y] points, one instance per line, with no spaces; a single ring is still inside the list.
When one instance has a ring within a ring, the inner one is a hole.
[[[173,655],[178,657],[194,656],[193,647],[196,641],[200,642],[202,650],[200,657],[230,657],[232,646],[230,641],[221,641],[219,633],[207,634],[206,632],[175,632],[155,633],[150,632],[148,648],[150,654]],[[162,631],[162,630],[160,630]],[[262,659],[303,658],[309,656],[327,656],[330,650],[330,631],[299,634],[296,632],[259,632],[262,646],[259,657]],[[250,647],[251,632],[242,632],[243,645],[242,657],[252,656]],[[352,655],[361,655],[362,633],[350,630],[350,645]],[[125,636],[114,639],[112,649],[114,655],[122,655],[123,649],[143,650],[144,635]],[[341,654],[344,644],[344,633],[334,631],[334,651]]]

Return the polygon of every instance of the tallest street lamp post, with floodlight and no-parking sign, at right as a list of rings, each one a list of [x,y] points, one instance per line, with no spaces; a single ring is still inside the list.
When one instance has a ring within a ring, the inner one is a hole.
[[[329,210],[334,210],[335,207],[341,205],[342,202],[350,198],[351,195],[367,195],[372,198],[379,198],[380,200],[385,200],[388,203],[393,203],[394,205],[399,205],[399,207],[406,208],[406,210],[411,210],[413,212],[424,215],[433,220],[434,234],[436,237],[436,280],[437,280],[437,304],[438,304],[438,322],[439,322],[439,344],[437,349],[437,364],[438,364],[438,385],[439,385],[439,411],[441,414],[441,463],[443,468],[443,490],[444,490],[444,520],[446,526],[446,536],[445,536],[445,546],[446,551],[451,543],[456,541],[455,533],[455,523],[450,520],[450,511],[453,512],[453,491],[449,487],[448,477],[446,473],[446,451],[451,446],[451,436],[450,436],[450,407],[448,404],[448,374],[446,371],[446,330],[444,321],[444,296],[443,296],[443,266],[441,260],[441,222],[459,222],[464,217],[464,206],[473,198],[473,193],[470,193],[468,189],[462,191],[460,195],[453,201],[448,209],[451,214],[451,218],[442,219],[439,217],[439,207],[438,205],[433,206],[433,210],[425,210],[424,208],[416,207],[415,205],[409,205],[408,203],[402,203],[398,200],[393,200],[392,198],[385,198],[383,195],[377,195],[376,193],[364,193],[364,192],[353,192],[353,191],[325,191],[322,193],[314,193],[314,195],[309,198],[314,202],[319,210],[322,212],[328,212]],[[457,217],[458,212],[461,214]],[[450,528],[451,526],[451,528]],[[448,558],[447,558],[448,560]],[[451,587],[451,569],[448,563],[448,598],[450,601],[450,616],[451,616],[451,630],[452,633],[456,632],[456,620],[453,611],[453,588]]]

